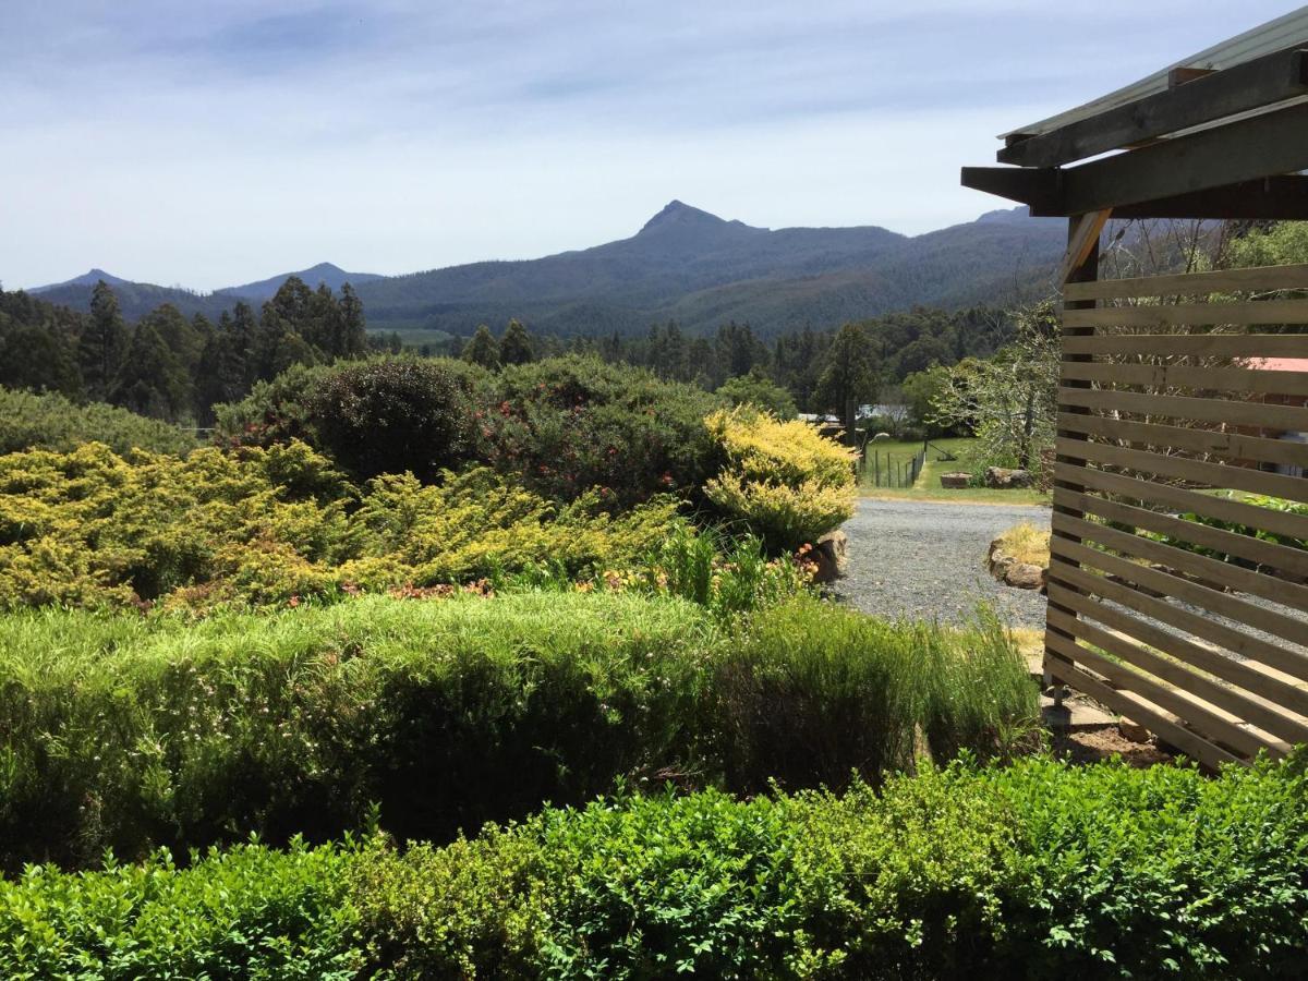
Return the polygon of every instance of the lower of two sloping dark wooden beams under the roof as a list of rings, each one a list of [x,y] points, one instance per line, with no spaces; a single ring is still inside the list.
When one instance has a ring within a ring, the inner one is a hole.
[[[1063,170],[1062,203],[1084,215],[1304,169],[1308,103],[1296,103]]]

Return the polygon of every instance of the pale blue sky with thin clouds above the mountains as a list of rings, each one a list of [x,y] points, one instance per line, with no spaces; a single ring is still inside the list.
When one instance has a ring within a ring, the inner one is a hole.
[[[634,234],[920,234],[997,133],[1294,9],[1244,0],[0,0],[0,284],[209,290]]]

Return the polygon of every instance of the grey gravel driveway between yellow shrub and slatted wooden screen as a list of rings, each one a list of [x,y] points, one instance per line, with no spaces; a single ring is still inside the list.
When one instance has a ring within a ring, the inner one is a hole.
[[[959,623],[985,602],[1012,627],[1044,627],[1044,596],[985,569],[990,542],[1020,521],[1048,525],[1049,509],[862,498],[844,526],[849,566],[836,591],[880,616]]]

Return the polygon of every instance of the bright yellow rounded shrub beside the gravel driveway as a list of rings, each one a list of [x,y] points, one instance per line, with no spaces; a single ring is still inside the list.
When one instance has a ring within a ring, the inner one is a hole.
[[[705,497],[777,549],[797,549],[854,514],[854,454],[807,422],[748,408],[718,411],[705,426],[726,463]]]

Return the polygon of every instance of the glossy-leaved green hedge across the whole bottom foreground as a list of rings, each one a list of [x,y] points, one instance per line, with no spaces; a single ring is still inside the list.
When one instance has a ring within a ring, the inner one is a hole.
[[[0,882],[5,977],[1301,977],[1301,760],[1032,759]]]

